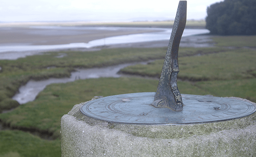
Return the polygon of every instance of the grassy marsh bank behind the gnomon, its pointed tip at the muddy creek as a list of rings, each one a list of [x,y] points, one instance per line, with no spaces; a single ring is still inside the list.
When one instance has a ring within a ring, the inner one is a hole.
[[[215,51],[211,54],[180,57],[178,78],[189,81],[252,79],[256,73],[255,60],[256,51],[250,49],[226,49],[218,53]],[[121,71],[160,78],[163,61],[156,60],[148,65],[137,64]]]

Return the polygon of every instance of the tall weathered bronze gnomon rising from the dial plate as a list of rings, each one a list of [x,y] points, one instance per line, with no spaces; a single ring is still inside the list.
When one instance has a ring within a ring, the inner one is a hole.
[[[153,106],[157,108],[168,107],[174,111],[182,111],[182,98],[177,86],[178,51],[187,19],[187,1],[180,1],[173,30],[169,41],[161,77],[156,90]]]

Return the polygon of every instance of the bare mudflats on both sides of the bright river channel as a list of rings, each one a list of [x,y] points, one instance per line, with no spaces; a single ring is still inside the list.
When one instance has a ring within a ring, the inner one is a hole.
[[[59,25],[63,26],[63,25]],[[142,27],[93,27],[72,26],[72,29],[49,25],[0,25],[0,46],[17,45],[59,45],[70,43],[88,43],[92,40],[120,35],[149,33],[162,31],[163,29],[147,29]],[[170,34],[171,36],[171,34]],[[213,43],[209,35],[195,35],[183,37],[180,47],[212,47]],[[128,44],[104,45],[91,48],[74,48],[71,50],[95,51],[101,48],[117,47],[167,47],[169,40],[138,42]],[[45,51],[59,51],[60,49],[36,50],[36,51],[9,51],[0,53],[0,59],[17,59],[28,55],[35,55]],[[61,49],[62,51],[64,49]],[[69,49],[70,50],[70,49]]]

